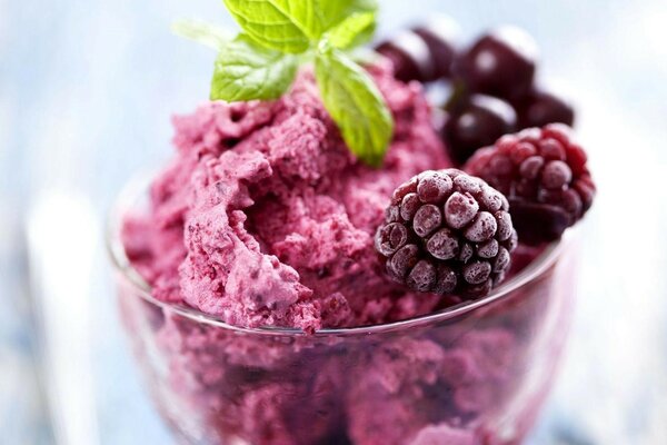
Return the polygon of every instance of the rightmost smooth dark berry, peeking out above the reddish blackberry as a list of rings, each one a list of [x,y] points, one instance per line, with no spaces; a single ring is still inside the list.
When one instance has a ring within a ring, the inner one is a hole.
[[[516,105],[519,128],[549,123],[575,123],[575,108],[563,97],[546,90],[531,91]]]

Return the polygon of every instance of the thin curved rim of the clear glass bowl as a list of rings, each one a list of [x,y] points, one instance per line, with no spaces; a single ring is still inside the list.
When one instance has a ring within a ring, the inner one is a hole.
[[[524,270],[517,274],[515,277],[506,280],[500,286],[495,288],[489,295],[478,300],[462,301],[458,305],[447,307],[445,309],[406,318],[398,322],[384,323],[378,325],[366,325],[355,327],[342,327],[342,328],[322,328],[313,334],[307,334],[298,328],[288,327],[243,327],[230,325],[219,317],[213,315],[205,314],[195,308],[177,305],[173,303],[161,301],[151,295],[150,285],[141,277],[141,275],[131,265],[127,257],[125,246],[121,239],[121,228],[125,215],[133,207],[132,202],[136,202],[140,194],[146,194],[150,184],[150,178],[153,175],[137,175],[135,178],[129,180],[122,188],[118,198],[111,207],[111,211],[107,218],[106,228],[106,247],[107,253],[111,259],[111,263],[116,271],[120,273],[132,288],[139,293],[139,296],[147,303],[158,306],[161,309],[176,313],[185,318],[191,319],[197,323],[205,325],[215,326],[242,334],[252,334],[261,336],[309,336],[309,337],[328,337],[328,336],[367,336],[370,334],[380,334],[387,332],[395,332],[401,329],[408,329],[417,326],[428,325],[438,322],[451,320],[465,316],[481,307],[488,306],[489,304],[497,301],[498,299],[514,293],[517,289],[522,288],[532,280],[539,278],[545,271],[547,271],[565,250],[565,246],[569,244],[571,239],[570,230],[561,237],[560,240],[556,240],[549,244],[545,251],[542,251],[534,261],[530,263]]]

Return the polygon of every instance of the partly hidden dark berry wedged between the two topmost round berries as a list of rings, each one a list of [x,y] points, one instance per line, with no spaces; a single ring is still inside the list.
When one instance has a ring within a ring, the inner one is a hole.
[[[434,63],[434,73],[430,79],[447,79],[451,75],[451,63],[457,53],[459,29],[456,22],[447,16],[435,16],[425,24],[415,27],[412,31],[421,37],[428,46]]]

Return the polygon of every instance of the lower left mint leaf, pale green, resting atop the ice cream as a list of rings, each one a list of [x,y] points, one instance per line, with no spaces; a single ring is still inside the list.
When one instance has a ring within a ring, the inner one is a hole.
[[[292,83],[297,67],[295,56],[262,48],[240,34],[218,55],[210,98],[229,102],[277,99]]]

